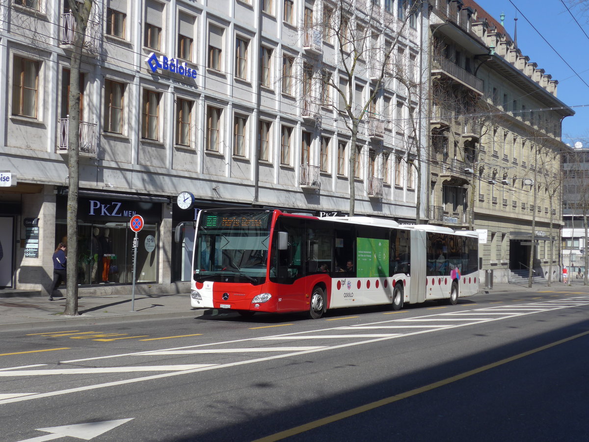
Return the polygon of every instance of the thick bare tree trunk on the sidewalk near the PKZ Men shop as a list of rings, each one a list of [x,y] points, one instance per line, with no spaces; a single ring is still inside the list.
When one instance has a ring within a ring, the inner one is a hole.
[[[68,0],[74,16],[74,42],[70,65],[68,126],[68,203],[67,203],[67,299],[65,315],[78,315],[78,190],[80,187],[80,64],[92,0]]]

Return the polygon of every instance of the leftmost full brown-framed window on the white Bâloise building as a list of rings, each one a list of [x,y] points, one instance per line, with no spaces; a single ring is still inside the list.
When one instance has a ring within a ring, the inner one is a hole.
[[[12,66],[12,115],[37,118],[39,62],[14,57]]]

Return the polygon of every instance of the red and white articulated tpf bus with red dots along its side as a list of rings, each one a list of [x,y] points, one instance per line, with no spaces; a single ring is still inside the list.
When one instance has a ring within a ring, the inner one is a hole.
[[[403,304],[478,292],[478,236],[365,216],[277,209],[198,213],[190,302],[194,308],[307,312]]]

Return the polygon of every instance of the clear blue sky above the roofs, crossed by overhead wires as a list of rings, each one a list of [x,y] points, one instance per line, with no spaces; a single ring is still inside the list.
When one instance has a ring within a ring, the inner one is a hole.
[[[512,0],[512,2],[520,12],[516,11],[509,0],[477,1],[497,21],[500,20],[501,12],[505,12],[504,27],[511,37],[514,37],[514,17],[517,14],[519,49],[522,54],[530,57],[530,61],[536,62],[539,68],[551,74],[554,80],[558,80],[558,98],[573,107],[576,113],[575,116],[567,117],[562,121],[562,140],[571,143],[571,140],[576,141],[581,138],[584,146],[589,146],[589,86],[585,85],[574,72],[576,71],[585,83],[589,84],[589,38],[575,23],[560,0]],[[568,0],[564,2],[568,6]],[[578,8],[571,8],[571,6],[569,9],[589,35],[589,14],[580,15]],[[551,49],[534,27],[566,62]],[[585,107],[580,107],[583,105]]]

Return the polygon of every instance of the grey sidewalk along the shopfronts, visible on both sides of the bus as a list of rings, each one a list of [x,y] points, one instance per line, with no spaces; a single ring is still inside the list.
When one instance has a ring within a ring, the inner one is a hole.
[[[493,288],[480,286],[479,294],[499,292],[573,291],[589,294],[589,286],[582,279],[573,279],[571,285],[553,282],[527,284],[495,283]],[[192,309],[188,293],[174,295],[135,295],[134,311],[131,311],[130,295],[84,294],[78,299],[80,316],[64,316],[65,298],[48,301],[39,292],[0,290],[0,330],[41,328],[48,325],[105,324],[108,322],[134,321],[138,319],[190,318],[203,315],[205,310]]]

